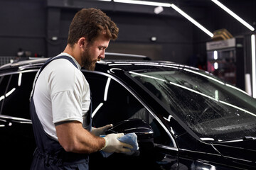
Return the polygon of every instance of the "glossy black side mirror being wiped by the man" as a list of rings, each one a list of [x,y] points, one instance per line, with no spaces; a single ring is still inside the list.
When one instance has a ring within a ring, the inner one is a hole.
[[[154,146],[154,131],[151,126],[141,119],[129,119],[122,122],[116,123],[112,128],[106,131],[106,135],[110,133],[125,134],[134,132],[137,135],[139,147],[143,146]]]

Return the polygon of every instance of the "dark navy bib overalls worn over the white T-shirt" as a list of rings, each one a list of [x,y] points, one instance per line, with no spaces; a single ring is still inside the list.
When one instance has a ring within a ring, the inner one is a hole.
[[[39,74],[42,70],[49,64],[51,61],[64,58],[69,60],[74,64],[75,67],[77,65],[75,62],[67,56],[60,56],[51,58],[47,60],[45,64],[41,67]],[[77,67],[78,68],[78,67]],[[39,77],[38,74],[38,77]],[[36,77],[36,80],[38,79]],[[36,81],[35,81],[36,84]],[[34,85],[35,86],[35,85]],[[56,140],[53,140],[49,135],[43,130],[43,125],[38,119],[38,115],[36,113],[36,108],[33,102],[33,94],[31,95],[31,120],[33,125],[33,132],[36,140],[36,150],[33,154],[33,161],[31,164],[31,169],[41,170],[41,169],[89,169],[89,157],[87,154],[77,154],[73,152],[66,152],[63,147],[61,147],[60,143]],[[87,114],[87,130],[91,130],[91,108]]]

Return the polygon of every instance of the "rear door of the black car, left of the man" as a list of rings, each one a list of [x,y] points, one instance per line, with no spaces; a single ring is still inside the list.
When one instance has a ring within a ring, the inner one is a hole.
[[[16,72],[0,77],[1,165],[29,169],[36,148],[29,113],[29,96],[36,72]]]

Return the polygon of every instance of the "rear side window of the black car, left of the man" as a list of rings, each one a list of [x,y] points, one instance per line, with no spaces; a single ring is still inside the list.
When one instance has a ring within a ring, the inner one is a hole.
[[[1,114],[30,119],[29,97],[36,72],[12,74]]]

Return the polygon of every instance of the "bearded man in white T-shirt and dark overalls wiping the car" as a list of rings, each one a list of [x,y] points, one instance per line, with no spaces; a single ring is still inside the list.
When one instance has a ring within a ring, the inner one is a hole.
[[[31,169],[88,169],[92,152],[130,152],[131,145],[117,140],[122,133],[98,137],[111,125],[91,130],[90,87],[80,72],[94,70],[117,34],[105,13],[82,9],[70,24],[64,52],[41,67],[31,92],[37,146]]]

